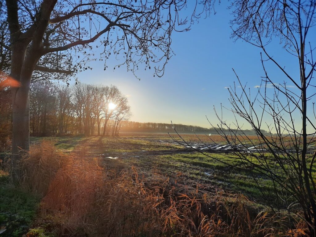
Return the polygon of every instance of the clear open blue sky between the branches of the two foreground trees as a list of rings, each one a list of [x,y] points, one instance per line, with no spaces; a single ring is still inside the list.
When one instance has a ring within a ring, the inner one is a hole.
[[[115,59],[110,58],[109,70],[104,71],[103,62],[96,60],[90,63],[92,71],[77,75],[79,81],[116,85],[128,96],[132,121],[170,123],[172,120],[177,124],[210,127],[207,116],[216,124],[213,106],[219,109],[222,103],[230,107],[227,87],[237,81],[232,68],[241,82],[247,83],[254,92],[264,76],[260,49],[243,40],[231,39],[229,21],[232,16],[224,2],[216,4],[216,15],[201,19],[189,32],[173,34],[175,55],[168,62],[163,77],[153,77],[152,70],[138,71],[139,81],[125,67],[110,69],[116,65]],[[289,73],[298,76],[296,59],[285,52],[278,39],[272,40],[267,49]],[[98,54],[98,50],[94,52]],[[276,83],[286,79],[274,65],[267,63],[266,66]],[[224,116],[231,118],[226,111]],[[245,124],[245,128],[250,126]]]

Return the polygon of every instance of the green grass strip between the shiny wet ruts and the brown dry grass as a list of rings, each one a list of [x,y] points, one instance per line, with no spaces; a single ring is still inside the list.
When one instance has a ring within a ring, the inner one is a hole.
[[[211,154],[218,160],[228,164],[238,166],[239,160],[232,160],[222,154]],[[158,169],[168,176],[175,177],[181,174],[187,184],[195,185],[196,183],[207,184],[222,188],[235,193],[242,193],[263,202],[263,194],[270,197],[270,201],[275,201],[275,194],[272,189],[272,182],[265,178],[258,178],[258,173],[254,171],[244,171],[223,164],[210,157],[200,153],[161,155],[158,157],[147,157],[142,160],[130,158],[125,160],[126,164],[133,164],[141,167],[142,170]],[[258,179],[265,188],[258,189],[253,177]]]

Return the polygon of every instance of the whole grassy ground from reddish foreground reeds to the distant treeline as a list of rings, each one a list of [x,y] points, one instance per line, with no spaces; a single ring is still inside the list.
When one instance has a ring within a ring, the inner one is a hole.
[[[0,233],[304,236],[306,226],[293,215],[282,207],[271,212],[277,206],[272,181],[238,168],[242,161],[222,137],[181,137],[31,137],[18,183],[5,169],[9,152],[1,154]],[[247,139],[249,146],[258,143]]]

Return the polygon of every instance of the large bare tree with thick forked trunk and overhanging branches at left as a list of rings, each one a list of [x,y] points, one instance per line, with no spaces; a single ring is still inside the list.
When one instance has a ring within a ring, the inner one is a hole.
[[[155,74],[161,76],[172,56],[171,33],[188,30],[194,19],[212,9],[210,0],[194,2],[192,14],[181,20],[187,0],[6,0],[5,4],[1,0],[0,26],[10,32],[1,46],[9,50],[10,77],[20,82],[12,93],[13,154],[18,147],[29,148],[32,78],[38,81],[43,73],[67,76],[90,69],[85,62],[94,58],[90,49],[98,39],[104,47],[101,60],[106,62],[112,53],[127,70],[135,72],[143,63],[150,69],[153,64]]]

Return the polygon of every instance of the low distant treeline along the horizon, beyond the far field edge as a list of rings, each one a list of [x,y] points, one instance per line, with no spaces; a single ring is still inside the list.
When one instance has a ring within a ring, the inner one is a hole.
[[[152,133],[197,133],[197,134],[218,134],[214,128],[204,128],[193,125],[167,124],[167,123],[139,123],[132,121],[122,121],[120,125],[121,132],[152,132]],[[227,132],[229,132],[227,130]],[[243,130],[246,135],[255,135],[253,130]]]

